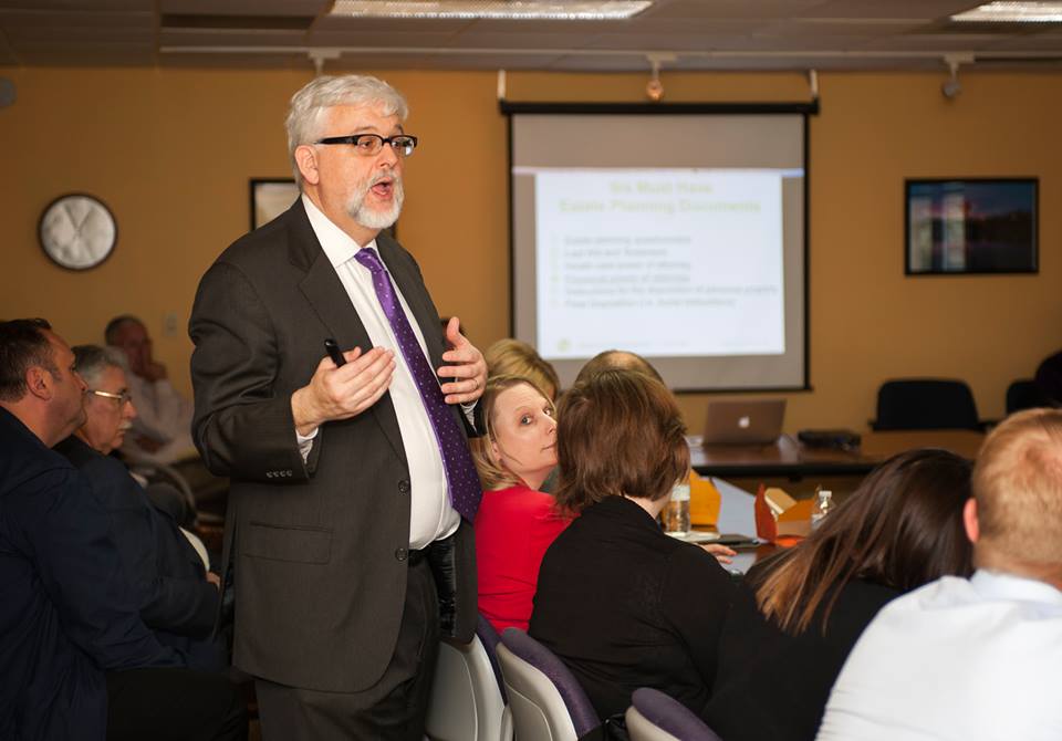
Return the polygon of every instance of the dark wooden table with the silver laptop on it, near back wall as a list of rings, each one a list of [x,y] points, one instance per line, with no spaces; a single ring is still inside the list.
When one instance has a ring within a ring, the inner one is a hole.
[[[688,438],[690,465],[700,476],[727,478],[863,477],[882,461],[916,448],[943,448],[974,460],[985,439],[974,430],[894,430],[866,432],[858,448],[810,448],[789,435],[763,446],[704,446]]]

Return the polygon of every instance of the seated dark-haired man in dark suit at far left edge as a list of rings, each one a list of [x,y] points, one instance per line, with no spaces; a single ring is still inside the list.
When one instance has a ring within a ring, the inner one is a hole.
[[[246,738],[227,680],[171,668],[106,512],[49,449],[84,421],[73,364],[43,320],[0,322],[0,739]]]

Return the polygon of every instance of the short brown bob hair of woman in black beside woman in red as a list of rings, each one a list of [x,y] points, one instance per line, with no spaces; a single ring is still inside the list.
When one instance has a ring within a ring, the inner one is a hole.
[[[606,497],[658,500],[689,471],[675,397],[635,370],[605,370],[575,384],[558,410],[556,501],[581,512]]]

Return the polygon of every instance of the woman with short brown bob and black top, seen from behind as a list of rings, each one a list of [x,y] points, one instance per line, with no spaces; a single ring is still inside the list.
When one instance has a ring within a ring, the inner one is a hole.
[[[546,551],[529,633],[572,670],[602,719],[638,687],[700,711],[730,576],[656,516],[689,472],[670,392],[633,370],[575,384],[558,414],[558,503],[579,514]]]

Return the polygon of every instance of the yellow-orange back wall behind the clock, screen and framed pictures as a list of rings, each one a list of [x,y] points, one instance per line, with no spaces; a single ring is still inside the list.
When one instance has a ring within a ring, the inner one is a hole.
[[[439,311],[480,347],[509,327],[506,121],[488,72],[374,71],[408,96],[423,148],[407,167],[403,243]],[[289,175],[282,119],[311,77],[292,71],[2,69],[0,316],[43,315],[72,343],[140,314],[187,389],[185,334],[199,275],[248,225],[248,178]],[[966,378],[981,415],[1062,346],[1062,74],[821,74],[811,124],[811,382],[787,429],[864,427],[893,376]],[[641,101],[644,75],[510,73],[512,101]],[[668,101],[806,100],[795,74],[670,74]],[[662,146],[667,146],[662,144]],[[1040,178],[1040,274],[904,276],[903,179]],[[118,247],[83,273],[37,242],[55,196],[87,191],[118,221]],[[164,317],[176,314],[167,336]],[[706,395],[681,398],[699,428]]]

